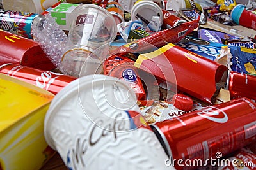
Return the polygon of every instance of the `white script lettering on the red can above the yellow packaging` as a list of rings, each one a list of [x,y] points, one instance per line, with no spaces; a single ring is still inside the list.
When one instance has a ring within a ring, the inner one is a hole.
[[[50,85],[54,83],[54,80],[61,75],[63,74],[45,71],[44,73],[41,73],[41,76],[36,77],[36,86],[48,90]]]

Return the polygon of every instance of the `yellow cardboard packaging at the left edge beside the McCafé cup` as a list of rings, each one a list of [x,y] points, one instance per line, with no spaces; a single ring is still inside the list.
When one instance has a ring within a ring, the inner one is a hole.
[[[44,139],[44,117],[54,95],[0,74],[0,169],[40,169],[54,151]]]

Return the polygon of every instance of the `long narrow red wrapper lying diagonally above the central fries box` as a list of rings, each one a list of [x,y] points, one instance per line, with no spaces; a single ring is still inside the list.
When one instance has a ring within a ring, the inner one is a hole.
[[[124,52],[130,52],[130,53],[143,52],[143,51],[150,50],[152,46],[156,46],[157,48],[160,48],[166,45],[166,43],[177,43],[197,27],[198,27],[198,20],[185,22],[175,27],[158,31],[145,38],[132,41],[131,43],[126,43],[125,45],[122,45],[119,48],[117,48],[117,50],[115,50],[112,53],[116,54],[116,53],[124,53]]]

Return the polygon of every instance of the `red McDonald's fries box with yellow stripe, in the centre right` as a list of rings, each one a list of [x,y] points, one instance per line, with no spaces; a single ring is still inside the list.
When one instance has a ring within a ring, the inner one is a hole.
[[[209,104],[214,103],[216,84],[227,71],[226,66],[172,43],[140,54],[134,66]],[[172,70],[175,75],[171,75]]]

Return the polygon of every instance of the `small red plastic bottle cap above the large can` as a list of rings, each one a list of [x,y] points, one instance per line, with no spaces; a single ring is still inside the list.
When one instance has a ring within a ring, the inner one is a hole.
[[[193,100],[184,94],[175,94],[172,101],[173,106],[180,110],[189,111],[193,108]]]

